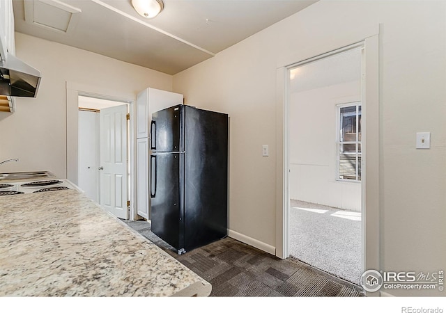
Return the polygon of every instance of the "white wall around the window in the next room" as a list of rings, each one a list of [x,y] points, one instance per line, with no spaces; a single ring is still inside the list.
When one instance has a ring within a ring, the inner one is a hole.
[[[361,211],[361,184],[336,179],[336,104],[361,101],[360,92],[361,82],[353,81],[291,93],[291,199]]]

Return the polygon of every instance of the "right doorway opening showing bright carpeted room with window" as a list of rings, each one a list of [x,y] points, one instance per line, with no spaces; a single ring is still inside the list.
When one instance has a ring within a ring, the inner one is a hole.
[[[288,67],[289,255],[349,282],[364,271],[364,45]]]

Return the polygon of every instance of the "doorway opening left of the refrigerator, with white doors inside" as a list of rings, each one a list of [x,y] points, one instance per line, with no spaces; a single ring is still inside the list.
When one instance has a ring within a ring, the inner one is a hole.
[[[128,103],[78,96],[78,186],[119,218],[129,218]]]

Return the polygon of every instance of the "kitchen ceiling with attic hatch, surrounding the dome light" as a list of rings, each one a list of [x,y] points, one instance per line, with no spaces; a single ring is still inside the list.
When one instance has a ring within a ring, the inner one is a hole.
[[[13,0],[13,9],[20,33],[176,74],[316,1],[164,0],[153,19],[131,0]]]

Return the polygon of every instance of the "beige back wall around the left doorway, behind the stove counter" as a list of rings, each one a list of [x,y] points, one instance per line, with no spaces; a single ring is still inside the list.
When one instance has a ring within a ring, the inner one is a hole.
[[[113,90],[136,99],[147,87],[171,90],[172,77],[99,54],[15,33],[16,55],[42,73],[36,99],[16,98],[16,112],[0,113],[1,172],[49,170],[66,177],[66,82]]]

